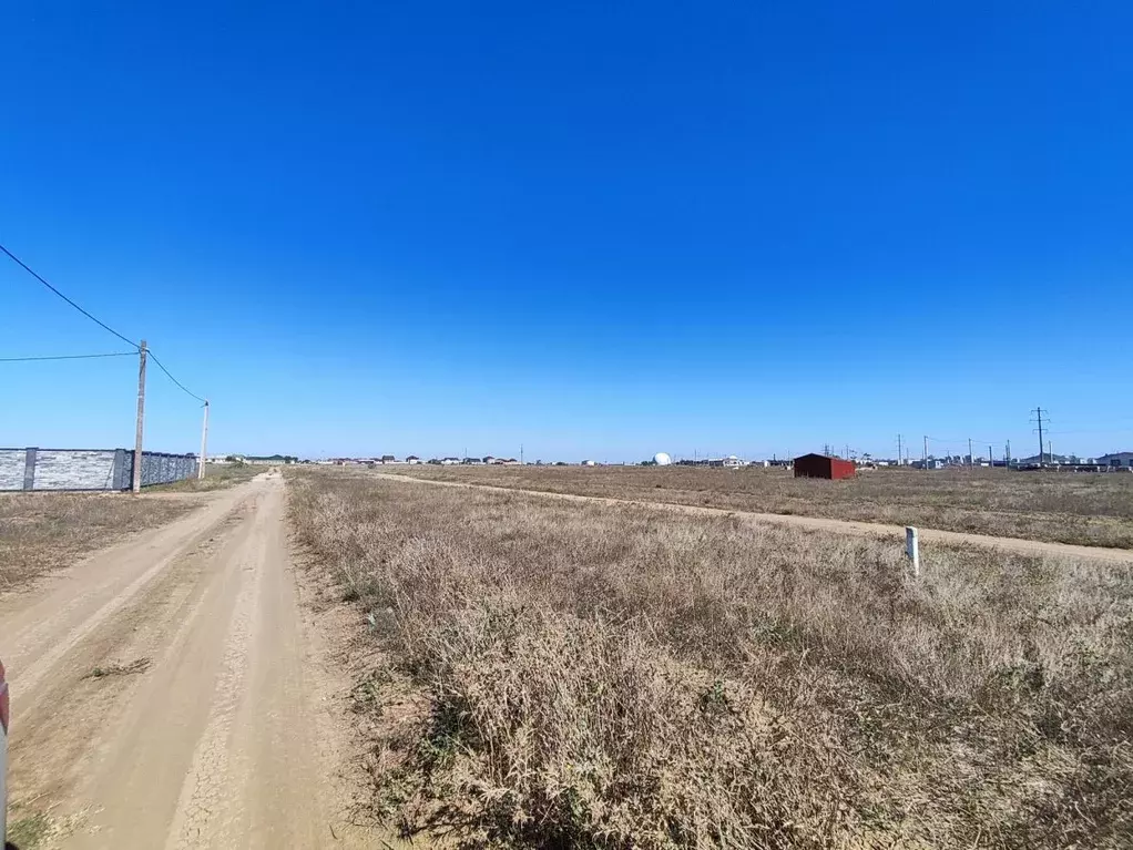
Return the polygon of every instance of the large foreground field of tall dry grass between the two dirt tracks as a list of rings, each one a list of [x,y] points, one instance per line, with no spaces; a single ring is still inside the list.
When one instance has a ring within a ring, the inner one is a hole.
[[[1133,567],[926,546],[914,581],[876,539],[290,478],[310,569],[385,660],[357,708],[407,833],[1133,845]]]

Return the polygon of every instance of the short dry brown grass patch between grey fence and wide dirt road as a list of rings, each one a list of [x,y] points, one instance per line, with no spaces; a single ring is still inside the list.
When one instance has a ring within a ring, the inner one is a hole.
[[[0,494],[0,593],[130,532],[169,522],[197,503],[127,493]]]

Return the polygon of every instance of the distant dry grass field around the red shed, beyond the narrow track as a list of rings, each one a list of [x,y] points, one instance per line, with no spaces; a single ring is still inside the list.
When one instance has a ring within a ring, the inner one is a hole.
[[[440,481],[1133,549],[1133,475],[876,469],[851,481],[783,469],[391,466]]]

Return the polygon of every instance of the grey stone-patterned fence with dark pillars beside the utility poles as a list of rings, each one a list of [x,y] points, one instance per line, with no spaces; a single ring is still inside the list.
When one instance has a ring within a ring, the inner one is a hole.
[[[142,452],[142,486],[197,474],[195,454]],[[129,490],[130,449],[0,449],[0,491]]]

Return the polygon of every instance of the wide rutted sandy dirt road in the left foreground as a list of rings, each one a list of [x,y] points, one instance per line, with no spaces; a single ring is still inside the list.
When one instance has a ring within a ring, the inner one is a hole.
[[[332,833],[330,686],[283,507],[283,479],[261,476],[0,601],[15,840],[353,843]]]

